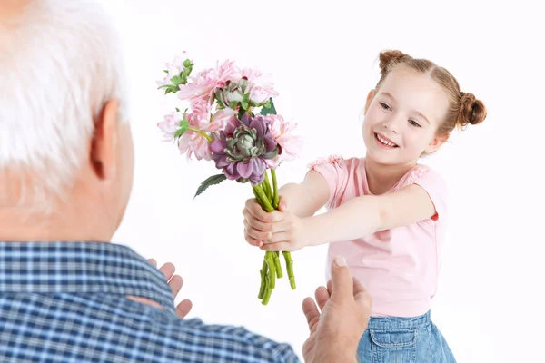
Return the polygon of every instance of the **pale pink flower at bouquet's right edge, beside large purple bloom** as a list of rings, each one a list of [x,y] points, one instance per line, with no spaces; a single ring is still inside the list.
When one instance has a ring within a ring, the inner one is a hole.
[[[272,137],[280,145],[279,155],[267,163],[276,168],[284,160],[288,162],[295,160],[302,152],[302,137],[292,133],[297,125],[285,122],[279,114],[267,114],[265,119],[271,122],[269,129]]]

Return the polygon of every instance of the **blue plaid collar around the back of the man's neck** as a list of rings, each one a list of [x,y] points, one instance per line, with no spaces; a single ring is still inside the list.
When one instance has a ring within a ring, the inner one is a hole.
[[[114,243],[0,241],[0,293],[24,292],[134,295],[176,315],[161,271]]]

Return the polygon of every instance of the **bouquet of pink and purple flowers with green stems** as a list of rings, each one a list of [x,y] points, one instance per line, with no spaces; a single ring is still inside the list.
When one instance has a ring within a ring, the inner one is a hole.
[[[166,64],[166,76],[157,82],[158,89],[165,95],[174,93],[189,108],[183,112],[176,108],[157,126],[163,140],[174,142],[188,160],[194,156],[198,161],[213,161],[222,171],[204,180],[195,197],[225,180],[248,182],[264,211],[277,210],[276,169],[281,162],[297,157],[302,139],[292,134],[296,125],[276,113],[272,99],[278,93],[269,75],[239,68],[228,60],[194,75],[193,66],[185,52]],[[290,286],[295,289],[291,253],[282,255]],[[279,252],[265,252],[260,274],[258,298],[266,305],[275,280],[283,276]]]

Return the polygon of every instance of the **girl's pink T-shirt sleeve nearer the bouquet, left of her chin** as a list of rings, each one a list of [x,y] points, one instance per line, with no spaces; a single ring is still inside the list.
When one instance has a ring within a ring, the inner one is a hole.
[[[331,155],[317,159],[308,165],[310,170],[319,172],[329,185],[329,199],[325,203],[325,208],[328,210],[341,204],[342,194],[348,182],[350,162],[351,160],[345,160],[342,156]]]

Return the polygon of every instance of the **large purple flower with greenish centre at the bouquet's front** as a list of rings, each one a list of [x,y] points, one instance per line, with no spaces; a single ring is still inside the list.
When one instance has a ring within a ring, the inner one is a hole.
[[[263,182],[265,160],[278,155],[278,142],[269,131],[269,123],[262,115],[244,113],[242,120],[233,116],[210,144],[216,168],[223,169],[227,179],[252,185]]]

